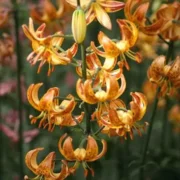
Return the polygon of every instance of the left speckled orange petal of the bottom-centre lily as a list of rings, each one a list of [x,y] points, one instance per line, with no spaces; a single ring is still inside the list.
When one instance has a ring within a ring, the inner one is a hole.
[[[65,140],[64,140],[65,139]],[[64,143],[63,143],[64,140]],[[63,147],[62,147],[63,143]],[[61,136],[59,143],[58,143],[60,153],[68,160],[68,161],[75,161],[76,157],[74,155],[74,149],[72,146],[72,138],[67,137],[67,134]]]

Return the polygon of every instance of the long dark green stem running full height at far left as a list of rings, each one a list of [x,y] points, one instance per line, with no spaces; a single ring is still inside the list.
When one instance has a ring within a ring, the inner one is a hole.
[[[17,93],[18,93],[18,112],[19,112],[19,173],[20,178],[24,176],[24,154],[23,154],[23,102],[22,102],[22,90],[21,90],[21,45],[19,40],[19,18],[18,18],[18,4],[13,1],[14,4],[14,23],[15,23],[15,37],[16,37],[16,54],[17,54]]]

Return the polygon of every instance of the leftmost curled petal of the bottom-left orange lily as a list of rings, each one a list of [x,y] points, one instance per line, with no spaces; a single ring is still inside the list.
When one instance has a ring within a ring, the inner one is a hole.
[[[29,151],[25,156],[26,166],[36,175],[38,175],[36,171],[38,168],[37,155],[39,151],[42,151],[43,149],[44,148],[36,148],[34,150]]]

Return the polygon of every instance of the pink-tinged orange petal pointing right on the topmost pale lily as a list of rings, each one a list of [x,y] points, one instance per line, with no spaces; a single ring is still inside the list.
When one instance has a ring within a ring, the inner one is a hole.
[[[100,5],[106,12],[116,12],[124,8],[125,4],[119,1],[103,1]]]

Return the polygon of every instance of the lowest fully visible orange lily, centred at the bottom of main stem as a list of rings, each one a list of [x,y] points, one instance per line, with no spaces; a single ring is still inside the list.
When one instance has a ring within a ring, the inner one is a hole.
[[[64,143],[63,143],[64,141]],[[87,145],[86,149],[84,149],[82,146],[75,149],[72,145],[72,138],[67,137],[67,134],[64,134],[61,136],[59,140],[59,151],[60,153],[68,160],[68,161],[76,161],[74,166],[70,168],[70,171],[75,171],[79,163],[82,163],[84,169],[85,169],[85,176],[87,176],[88,169],[91,171],[92,175],[94,175],[93,169],[91,169],[86,162],[93,162],[98,159],[100,159],[107,151],[107,144],[105,140],[101,140],[103,148],[102,151],[98,154],[98,145],[96,140],[92,136],[87,137]]]

